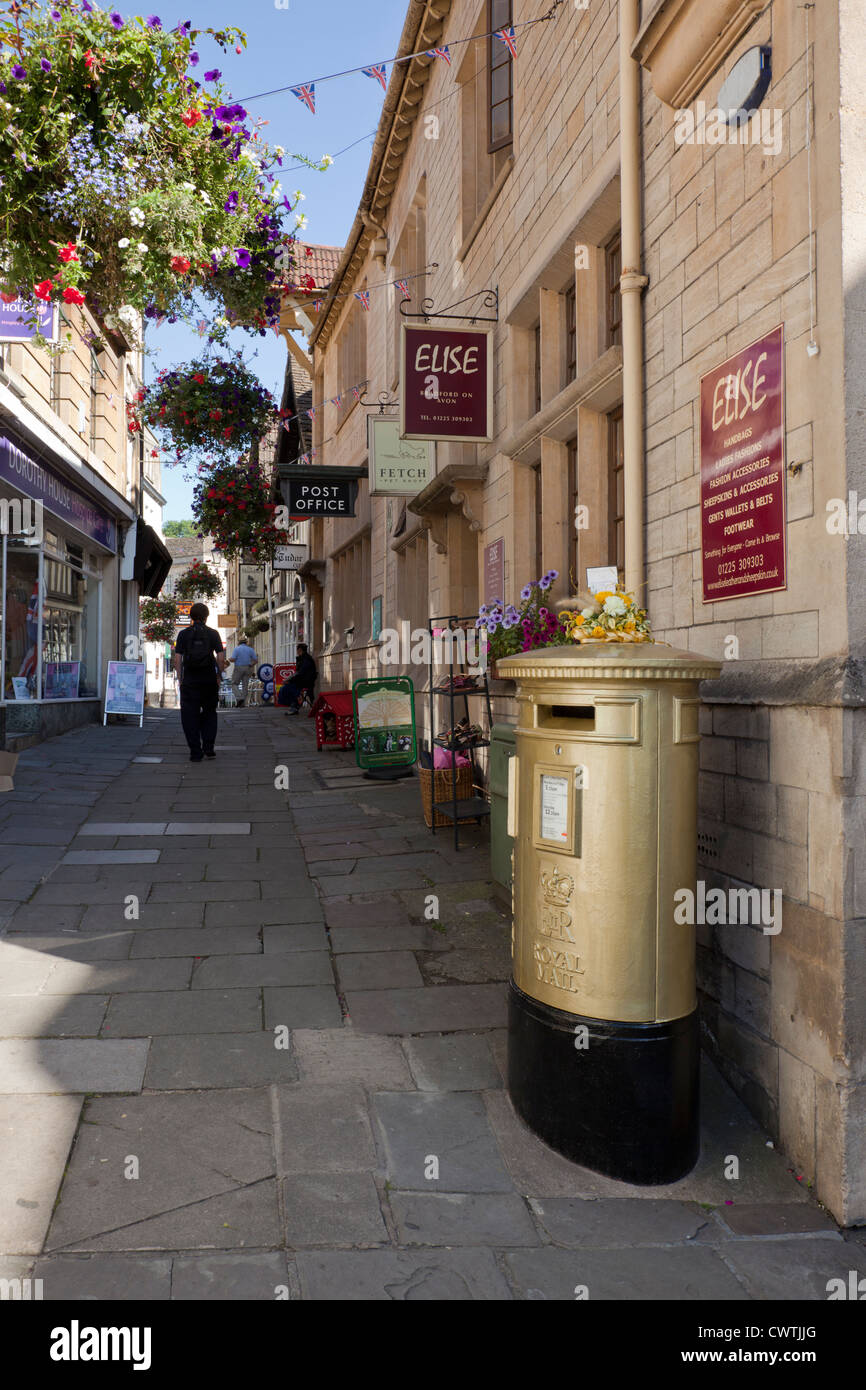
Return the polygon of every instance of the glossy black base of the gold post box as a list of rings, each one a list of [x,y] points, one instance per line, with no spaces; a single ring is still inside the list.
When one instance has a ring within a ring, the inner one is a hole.
[[[607,1177],[652,1186],[691,1172],[701,1148],[699,1055],[696,1011],[670,1023],[609,1023],[539,1004],[509,983],[514,1109],[550,1148]]]

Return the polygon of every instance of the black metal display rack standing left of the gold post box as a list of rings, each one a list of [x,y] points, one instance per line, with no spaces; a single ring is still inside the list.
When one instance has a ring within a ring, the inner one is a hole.
[[[475,628],[475,617],[457,617],[449,614],[448,617],[431,617],[427,624],[430,632],[430,685],[424,692],[430,695],[430,763],[434,769],[432,785],[434,785],[434,799],[432,799],[432,834],[436,833],[436,812],[445,820],[452,821],[455,827],[455,849],[460,848],[460,824],[467,820],[481,820],[491,813],[491,805],[487,796],[473,795],[464,799],[457,796],[457,756],[463,755],[470,760],[473,787],[478,783],[478,767],[475,762],[475,751],[478,748],[489,748],[491,742],[491,727],[492,727],[492,710],[491,710],[491,692],[487,680],[487,671],[481,676],[470,676],[466,670],[466,660],[455,662],[455,642],[448,642],[448,660],[436,663],[435,660],[435,632],[457,632]],[[445,734],[436,734],[435,730],[441,727],[442,710],[448,710],[448,730]],[[487,726],[473,721],[487,719]],[[452,795],[449,799],[436,801],[435,796],[435,766],[434,766],[434,749],[445,748],[450,753],[450,788]]]

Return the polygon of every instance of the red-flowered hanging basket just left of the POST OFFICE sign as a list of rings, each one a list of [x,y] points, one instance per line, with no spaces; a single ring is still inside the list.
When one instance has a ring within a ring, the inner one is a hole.
[[[249,550],[264,562],[285,541],[274,525],[277,505],[270,482],[257,464],[222,464],[206,474],[193,491],[192,513],[202,535],[227,559]]]

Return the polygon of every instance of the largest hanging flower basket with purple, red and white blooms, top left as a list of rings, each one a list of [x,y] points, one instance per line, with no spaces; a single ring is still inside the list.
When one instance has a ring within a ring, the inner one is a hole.
[[[275,172],[285,152],[268,149],[265,122],[231,101],[218,68],[196,81],[211,40],[224,53],[246,43],[235,28],[163,29],[89,0],[4,10],[0,291],[24,297],[29,321],[40,302],[86,302],[138,338],[140,316],[189,314],[200,292],[214,338],[278,325],[293,263]]]

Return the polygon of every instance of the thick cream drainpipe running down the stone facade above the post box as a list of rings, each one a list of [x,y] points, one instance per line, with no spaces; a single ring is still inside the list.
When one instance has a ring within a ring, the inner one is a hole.
[[[639,0],[620,0],[620,227],[626,588],[646,602],[644,555],[644,321],[641,293],[641,70],[631,57]]]

